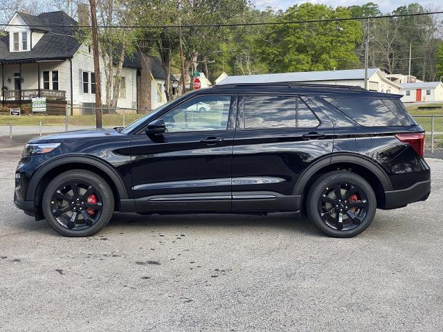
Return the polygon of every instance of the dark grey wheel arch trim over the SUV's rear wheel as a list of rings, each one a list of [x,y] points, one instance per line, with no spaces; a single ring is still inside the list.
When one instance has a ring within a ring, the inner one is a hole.
[[[318,160],[317,163],[305,169],[298,178],[294,195],[302,195],[302,207],[305,205],[307,191],[318,176],[337,169],[349,169],[350,172],[365,178],[374,190],[377,197],[377,207],[386,205],[385,192],[392,190],[392,183],[388,174],[373,160],[356,154],[333,154],[330,158]]]

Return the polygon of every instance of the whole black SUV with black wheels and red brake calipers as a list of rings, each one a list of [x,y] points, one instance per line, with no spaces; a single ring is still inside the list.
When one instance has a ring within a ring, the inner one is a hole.
[[[400,97],[291,83],[193,91],[125,128],[30,140],[14,201],[70,237],[98,232],[114,211],[300,211],[352,237],[377,208],[431,192],[424,129]]]

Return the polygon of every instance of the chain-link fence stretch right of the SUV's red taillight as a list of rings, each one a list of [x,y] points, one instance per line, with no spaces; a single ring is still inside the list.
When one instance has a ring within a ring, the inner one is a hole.
[[[443,158],[443,115],[414,116],[414,118],[426,131],[425,156]]]

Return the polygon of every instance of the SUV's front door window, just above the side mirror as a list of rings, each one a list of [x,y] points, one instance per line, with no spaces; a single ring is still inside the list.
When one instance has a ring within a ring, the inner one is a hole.
[[[194,98],[163,116],[166,129],[169,132],[226,129],[230,102],[230,96]]]

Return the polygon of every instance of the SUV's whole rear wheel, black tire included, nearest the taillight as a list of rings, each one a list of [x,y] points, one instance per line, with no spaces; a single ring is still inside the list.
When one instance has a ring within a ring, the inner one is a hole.
[[[321,232],[330,237],[354,237],[372,223],[377,199],[368,181],[341,170],[323,174],[311,185],[306,208]]]

